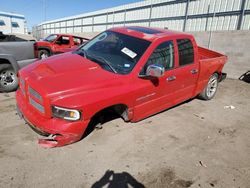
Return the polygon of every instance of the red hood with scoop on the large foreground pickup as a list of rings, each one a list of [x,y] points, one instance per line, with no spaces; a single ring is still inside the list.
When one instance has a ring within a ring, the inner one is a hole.
[[[33,89],[53,97],[118,87],[123,75],[111,73],[80,55],[65,53],[38,61],[20,71]]]

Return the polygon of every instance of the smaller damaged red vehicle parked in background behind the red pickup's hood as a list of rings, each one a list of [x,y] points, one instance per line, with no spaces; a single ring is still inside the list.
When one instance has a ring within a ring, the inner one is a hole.
[[[43,59],[54,54],[73,51],[88,40],[87,38],[73,35],[52,34],[35,43],[36,54],[38,58]]]

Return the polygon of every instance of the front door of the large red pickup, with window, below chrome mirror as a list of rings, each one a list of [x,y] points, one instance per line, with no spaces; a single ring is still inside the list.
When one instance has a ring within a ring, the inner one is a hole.
[[[151,64],[164,66],[164,75],[159,78],[145,77],[146,69]],[[174,93],[177,89],[172,82],[174,81],[174,68],[174,42],[164,41],[153,50],[139,73],[139,77],[135,80],[137,93],[135,95],[134,121],[172,106]]]

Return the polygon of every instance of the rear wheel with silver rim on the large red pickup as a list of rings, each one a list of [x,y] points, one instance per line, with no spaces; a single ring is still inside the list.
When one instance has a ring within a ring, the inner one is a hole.
[[[211,100],[214,98],[217,89],[218,89],[218,74],[213,74],[206,85],[206,87],[203,89],[203,91],[199,94],[199,98],[202,100]]]

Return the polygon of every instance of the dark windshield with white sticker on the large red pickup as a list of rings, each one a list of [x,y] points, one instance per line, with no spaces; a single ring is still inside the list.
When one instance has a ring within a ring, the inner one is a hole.
[[[149,41],[113,31],[105,31],[75,53],[98,63],[103,69],[128,74],[144,54]]]

